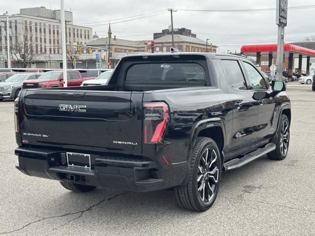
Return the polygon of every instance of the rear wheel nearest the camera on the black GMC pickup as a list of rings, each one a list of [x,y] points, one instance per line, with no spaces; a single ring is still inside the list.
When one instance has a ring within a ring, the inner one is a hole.
[[[188,183],[174,188],[175,198],[185,209],[205,211],[215,202],[219,191],[220,150],[214,140],[200,137],[189,160]]]

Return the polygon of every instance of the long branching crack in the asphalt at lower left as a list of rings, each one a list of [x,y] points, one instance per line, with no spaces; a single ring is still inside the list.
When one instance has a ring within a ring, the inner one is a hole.
[[[78,217],[76,217],[76,218],[74,218],[74,219],[71,219],[71,220],[67,221],[65,224],[63,224],[62,226],[58,227],[58,228],[61,228],[61,227],[65,226],[65,225],[67,225],[68,223],[70,223],[71,221],[74,221],[74,220],[79,219],[85,212],[91,210],[91,209],[94,208],[94,207],[97,207],[98,205],[102,204],[103,202],[105,202],[105,201],[111,201],[111,200],[113,200],[114,198],[117,198],[117,197],[119,197],[119,196],[122,196],[122,195],[124,195],[124,194],[126,194],[126,193],[128,193],[128,192],[119,193],[119,194],[116,194],[115,196],[110,197],[110,198],[108,198],[108,199],[103,199],[103,200],[99,201],[98,203],[92,205],[91,207],[88,207],[88,208],[85,209],[85,210],[79,210],[79,211],[76,211],[76,212],[70,212],[70,213],[65,213],[65,214],[63,214],[63,215],[56,215],[56,216],[49,216],[49,217],[39,216],[41,219],[32,221],[32,222],[30,222],[30,223],[28,223],[28,224],[22,226],[22,227],[19,228],[19,229],[15,229],[15,230],[8,231],[8,232],[1,232],[0,235],[6,235],[6,234],[11,234],[11,233],[14,233],[14,232],[17,232],[17,231],[21,231],[21,230],[25,229],[26,227],[28,227],[28,226],[30,226],[30,225],[32,225],[32,224],[38,223],[38,222],[40,222],[40,221],[43,221],[43,220],[53,219],[53,218],[59,218],[59,217],[64,217],[64,216],[68,216],[68,215],[79,214]],[[56,229],[58,229],[58,228],[56,228]]]

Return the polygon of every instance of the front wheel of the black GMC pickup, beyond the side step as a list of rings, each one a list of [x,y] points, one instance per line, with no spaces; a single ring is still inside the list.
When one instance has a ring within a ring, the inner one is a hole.
[[[280,117],[279,126],[276,132],[276,149],[267,154],[269,159],[272,160],[283,160],[289,149],[290,142],[290,123],[289,119],[282,114]]]

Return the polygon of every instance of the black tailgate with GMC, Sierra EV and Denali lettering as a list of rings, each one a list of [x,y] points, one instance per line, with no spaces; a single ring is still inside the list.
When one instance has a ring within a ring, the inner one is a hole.
[[[24,144],[141,155],[142,92],[25,90]]]

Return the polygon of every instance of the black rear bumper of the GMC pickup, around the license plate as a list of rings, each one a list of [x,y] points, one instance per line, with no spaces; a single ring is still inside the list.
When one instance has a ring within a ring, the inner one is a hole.
[[[39,148],[16,148],[15,154],[19,158],[16,168],[29,176],[134,192],[179,186],[187,173],[186,162],[161,168],[152,160],[112,155],[91,155],[93,168],[77,169],[63,164],[62,153]]]

